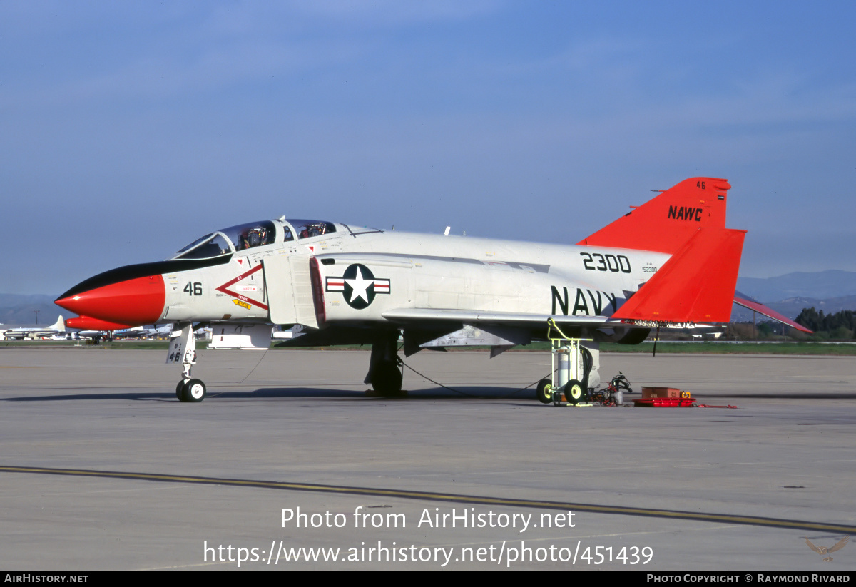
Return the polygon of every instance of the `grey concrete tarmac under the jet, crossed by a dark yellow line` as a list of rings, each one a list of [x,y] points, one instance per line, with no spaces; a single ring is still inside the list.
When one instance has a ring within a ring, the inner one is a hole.
[[[458,391],[405,370],[407,398],[366,397],[368,357],[202,350],[185,404],[163,351],[0,347],[0,566],[856,567],[805,542],[856,532],[853,358],[601,356],[737,406],[657,409],[514,393],[549,353],[423,352]]]

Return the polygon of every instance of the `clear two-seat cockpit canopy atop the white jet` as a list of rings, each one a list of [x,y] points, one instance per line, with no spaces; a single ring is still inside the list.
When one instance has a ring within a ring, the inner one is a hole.
[[[290,226],[289,226],[290,223]],[[280,242],[298,239],[308,239],[336,232],[336,224],[323,220],[289,220],[271,222],[248,222],[238,224],[211,234],[205,234],[201,239],[194,240],[181,251],[175,253],[174,259],[204,259],[228,255],[233,252],[245,251],[256,246],[271,245],[276,242],[276,226],[282,231]]]

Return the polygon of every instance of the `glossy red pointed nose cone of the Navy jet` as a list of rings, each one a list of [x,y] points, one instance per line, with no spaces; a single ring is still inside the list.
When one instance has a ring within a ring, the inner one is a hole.
[[[57,299],[56,304],[81,316],[140,326],[158,322],[165,299],[163,277],[156,275],[88,289]]]

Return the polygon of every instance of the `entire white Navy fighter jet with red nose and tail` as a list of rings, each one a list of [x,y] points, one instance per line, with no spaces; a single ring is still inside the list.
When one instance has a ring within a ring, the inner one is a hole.
[[[167,362],[184,368],[183,401],[205,398],[190,373],[194,323],[214,335],[250,333],[265,347],[271,324],[300,326],[286,345],[370,344],[365,382],[382,395],[401,393],[400,339],[406,356],[462,345],[490,346],[494,356],[558,332],[583,341],[572,360],[585,389],[599,382],[600,341],[637,344],[651,329],[727,323],[734,301],[805,330],[735,295],[745,231],[725,228],[729,188],[711,177],[681,181],[576,245],[282,216],[205,234],[165,261],[106,271],[56,304],[80,314],[78,328],[175,323],[181,335]],[[549,401],[545,382],[538,397]]]

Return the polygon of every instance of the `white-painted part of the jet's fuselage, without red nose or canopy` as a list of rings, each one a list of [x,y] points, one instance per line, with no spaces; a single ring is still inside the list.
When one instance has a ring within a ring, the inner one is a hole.
[[[238,251],[225,264],[163,274],[160,320],[321,326],[309,317],[318,310],[309,311],[313,303],[323,303],[327,323],[384,322],[385,312],[401,308],[609,317],[669,258],[628,249],[336,228]],[[317,291],[312,299],[312,257],[320,261],[320,300]],[[348,278],[352,265],[361,269]]]

